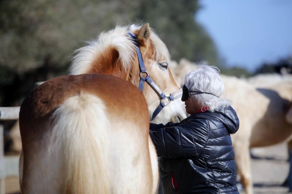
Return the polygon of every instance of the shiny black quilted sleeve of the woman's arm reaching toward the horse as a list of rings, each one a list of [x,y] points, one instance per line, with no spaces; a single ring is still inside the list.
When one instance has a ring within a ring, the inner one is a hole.
[[[209,136],[206,119],[192,119],[175,126],[163,125],[150,133],[157,154],[166,158],[198,156]]]

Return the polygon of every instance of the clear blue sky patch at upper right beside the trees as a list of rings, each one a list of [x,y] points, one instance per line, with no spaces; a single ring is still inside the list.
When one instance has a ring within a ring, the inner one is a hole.
[[[196,15],[228,66],[255,70],[292,56],[292,0],[200,0]]]

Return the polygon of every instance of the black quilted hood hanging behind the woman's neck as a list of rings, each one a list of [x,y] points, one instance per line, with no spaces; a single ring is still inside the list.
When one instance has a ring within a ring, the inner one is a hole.
[[[239,128],[239,119],[234,109],[231,106],[228,106],[215,112],[223,115],[222,118],[220,117],[218,119],[224,123],[230,134],[235,134]]]

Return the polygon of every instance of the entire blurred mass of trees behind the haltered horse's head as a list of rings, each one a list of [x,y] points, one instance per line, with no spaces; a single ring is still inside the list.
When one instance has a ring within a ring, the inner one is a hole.
[[[70,54],[97,33],[130,21],[150,23],[174,60],[217,63],[215,46],[194,21],[197,1],[157,0],[2,0],[0,1],[0,65],[18,72],[68,66]]]

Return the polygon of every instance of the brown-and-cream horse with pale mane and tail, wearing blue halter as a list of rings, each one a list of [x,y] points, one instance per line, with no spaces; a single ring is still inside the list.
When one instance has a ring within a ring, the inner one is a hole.
[[[116,27],[79,49],[74,75],[45,82],[22,103],[21,192],[155,193],[149,118],[162,106],[152,122],[186,117],[180,100],[163,95],[179,90],[168,64],[168,50],[148,24]]]

